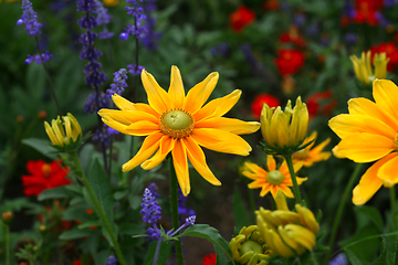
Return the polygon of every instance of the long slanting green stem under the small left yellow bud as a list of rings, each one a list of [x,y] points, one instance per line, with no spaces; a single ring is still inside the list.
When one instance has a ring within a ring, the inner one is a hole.
[[[82,166],[81,166],[81,163],[78,161],[76,152],[71,152],[71,157],[73,159],[73,162],[74,162],[77,171],[80,172],[78,177],[81,177],[81,179],[83,180],[83,183],[84,183],[85,188],[87,189],[88,195],[90,195],[91,200],[93,201],[95,209],[97,210],[97,213],[98,213],[98,215],[101,218],[101,221],[103,222],[105,230],[109,234],[111,241],[112,241],[112,243],[114,245],[114,248],[115,248],[115,252],[116,252],[116,255],[117,255],[117,259],[119,261],[119,263],[122,265],[126,265],[126,262],[125,262],[125,259],[123,257],[121,247],[119,247],[119,245],[117,243],[116,236],[115,236],[115,234],[114,234],[114,232],[113,232],[113,230],[111,227],[109,221],[106,219],[105,212],[101,208],[100,202],[96,199],[92,187],[90,186],[87,177],[85,176],[85,173],[84,173],[84,171],[82,169]]]

